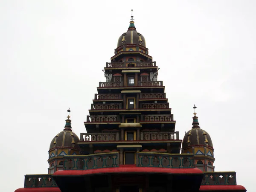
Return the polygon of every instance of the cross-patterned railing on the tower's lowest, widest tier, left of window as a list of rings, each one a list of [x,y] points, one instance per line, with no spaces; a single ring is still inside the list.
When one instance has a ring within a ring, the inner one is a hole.
[[[119,132],[117,133],[81,133],[80,141],[118,141]]]

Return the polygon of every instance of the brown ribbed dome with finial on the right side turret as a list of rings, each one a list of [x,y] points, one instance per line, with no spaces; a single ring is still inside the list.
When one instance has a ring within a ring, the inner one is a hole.
[[[192,129],[187,131],[183,138],[182,149],[191,147],[192,145],[206,145],[213,148],[210,135],[198,126],[199,122],[197,116],[193,116],[192,125]]]

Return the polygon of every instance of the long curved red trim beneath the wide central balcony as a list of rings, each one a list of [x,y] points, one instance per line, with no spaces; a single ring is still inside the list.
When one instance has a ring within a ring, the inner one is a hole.
[[[54,176],[71,176],[71,175],[93,175],[106,173],[167,173],[167,174],[203,174],[200,169],[172,169],[159,167],[136,167],[136,166],[121,166],[113,168],[88,169],[88,170],[59,170]]]

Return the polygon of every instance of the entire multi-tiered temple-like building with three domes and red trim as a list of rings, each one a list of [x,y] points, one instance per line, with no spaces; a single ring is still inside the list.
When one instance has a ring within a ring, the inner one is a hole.
[[[158,70],[132,16],[103,70],[86,133],[72,131],[68,114],[50,143],[48,174],[25,175],[15,192],[246,192],[236,172],[214,171],[212,140],[195,111],[180,139]]]

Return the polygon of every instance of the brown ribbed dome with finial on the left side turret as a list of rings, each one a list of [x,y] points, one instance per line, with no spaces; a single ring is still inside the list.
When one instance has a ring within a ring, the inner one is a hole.
[[[68,147],[79,150],[79,145],[77,144],[79,142],[79,137],[71,128],[71,120],[67,119],[64,130],[52,139],[49,150],[55,147]]]

